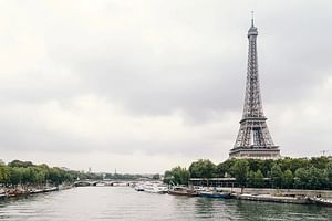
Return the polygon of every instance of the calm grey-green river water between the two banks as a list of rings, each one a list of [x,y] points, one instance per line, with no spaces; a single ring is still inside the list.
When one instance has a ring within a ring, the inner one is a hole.
[[[0,220],[331,221],[332,208],[153,194],[129,187],[82,187],[0,200]]]

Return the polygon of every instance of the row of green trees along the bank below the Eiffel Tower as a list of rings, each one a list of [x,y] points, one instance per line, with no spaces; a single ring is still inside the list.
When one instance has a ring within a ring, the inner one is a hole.
[[[332,158],[228,159],[215,165],[208,159],[191,162],[188,169],[165,171],[164,181],[188,185],[190,178],[236,178],[241,187],[332,189]]]

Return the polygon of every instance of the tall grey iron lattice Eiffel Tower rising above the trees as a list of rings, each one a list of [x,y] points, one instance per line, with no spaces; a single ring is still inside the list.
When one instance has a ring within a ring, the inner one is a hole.
[[[229,151],[230,158],[278,159],[280,149],[272,141],[262,109],[258,78],[257,40],[258,31],[253,25],[248,31],[249,53],[246,97],[240,129],[236,144]]]

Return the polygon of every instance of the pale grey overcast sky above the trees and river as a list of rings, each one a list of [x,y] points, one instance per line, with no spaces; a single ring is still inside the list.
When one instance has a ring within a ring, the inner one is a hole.
[[[228,158],[250,11],[281,155],[332,154],[332,2],[0,1],[0,158],[164,172]]]

